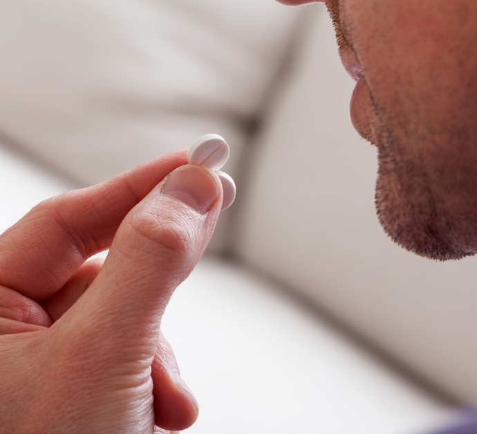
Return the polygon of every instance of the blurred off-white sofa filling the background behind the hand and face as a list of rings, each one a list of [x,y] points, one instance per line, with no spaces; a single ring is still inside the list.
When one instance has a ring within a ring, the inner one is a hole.
[[[237,183],[163,329],[187,433],[418,434],[477,403],[476,258],[377,222],[322,4],[0,0],[0,230],[203,134]]]

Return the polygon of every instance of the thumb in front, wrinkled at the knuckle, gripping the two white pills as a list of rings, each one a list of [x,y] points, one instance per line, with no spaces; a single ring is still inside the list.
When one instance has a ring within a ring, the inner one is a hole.
[[[221,183],[203,166],[181,166],[153,188],[124,218],[102,270],[64,316],[70,338],[104,349],[114,365],[129,356],[152,362],[165,307],[203,254],[221,203]]]

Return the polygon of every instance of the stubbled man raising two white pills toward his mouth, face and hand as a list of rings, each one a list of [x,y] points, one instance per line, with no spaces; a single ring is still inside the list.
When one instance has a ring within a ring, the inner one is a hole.
[[[474,254],[477,3],[327,6],[357,80],[353,123],[379,150],[384,229],[420,255]],[[51,199],[1,235],[0,396],[8,390],[10,404],[0,405],[0,432],[150,433],[154,422],[169,431],[194,422],[196,402],[159,326],[212,234],[222,192],[214,173],[185,164],[185,152],[169,154]],[[84,263],[108,246],[102,268]]]

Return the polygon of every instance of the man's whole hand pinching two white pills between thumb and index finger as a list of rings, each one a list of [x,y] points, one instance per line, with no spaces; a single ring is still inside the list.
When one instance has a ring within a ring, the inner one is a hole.
[[[216,175],[184,150],[48,199],[0,235],[0,433],[194,423],[160,321],[221,201]],[[104,265],[86,262],[106,248]]]

